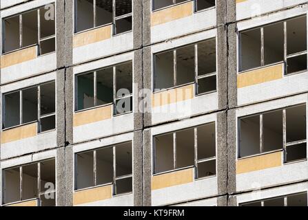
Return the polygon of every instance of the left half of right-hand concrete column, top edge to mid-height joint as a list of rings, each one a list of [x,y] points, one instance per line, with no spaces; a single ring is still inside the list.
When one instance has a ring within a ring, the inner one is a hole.
[[[216,1],[218,109],[227,109],[227,3]]]

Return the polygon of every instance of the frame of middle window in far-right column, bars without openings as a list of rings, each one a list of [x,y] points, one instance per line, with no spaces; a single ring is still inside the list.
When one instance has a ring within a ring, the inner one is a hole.
[[[297,144],[305,144],[306,143],[306,147],[307,147],[307,144],[308,144],[308,137],[306,135],[306,139],[305,140],[297,140],[297,141],[294,141],[294,142],[287,142],[287,115],[286,115],[286,112],[287,112],[287,109],[289,108],[292,108],[292,107],[300,107],[300,106],[305,106],[306,107],[306,118],[307,118],[307,104],[306,103],[300,103],[300,104],[295,104],[295,105],[291,105],[291,106],[288,106],[288,107],[284,107],[284,108],[280,108],[280,109],[272,109],[270,111],[265,111],[265,112],[262,112],[262,113],[256,113],[256,114],[252,114],[252,115],[246,115],[246,116],[243,116],[243,117],[239,117],[238,120],[237,120],[237,126],[238,126],[238,141],[237,141],[237,144],[238,144],[238,148],[237,148],[237,158],[238,159],[245,159],[245,158],[248,158],[248,157],[255,157],[255,156],[258,156],[258,155],[264,155],[264,154],[267,154],[267,153],[272,153],[272,152],[277,152],[277,151],[283,151],[284,155],[283,155],[283,163],[284,164],[290,164],[290,163],[294,163],[294,162],[300,162],[300,161],[305,161],[307,160],[307,153],[306,153],[306,157],[303,158],[303,159],[296,159],[294,161],[291,161],[291,162],[287,162],[287,146],[296,146]],[[270,113],[270,112],[274,112],[274,111],[279,111],[279,110],[282,110],[283,111],[283,118],[282,118],[282,121],[283,121],[283,148],[281,149],[278,149],[278,150],[274,150],[274,151],[264,151],[264,148],[263,148],[263,139],[264,139],[264,135],[263,135],[263,115],[265,113]],[[240,120],[242,120],[243,118],[250,118],[252,116],[259,116],[259,127],[260,127],[260,133],[259,133],[259,152],[258,154],[254,154],[254,155],[247,155],[247,156],[244,156],[244,157],[240,157]],[[306,129],[307,129],[307,122],[305,122],[306,124]]]

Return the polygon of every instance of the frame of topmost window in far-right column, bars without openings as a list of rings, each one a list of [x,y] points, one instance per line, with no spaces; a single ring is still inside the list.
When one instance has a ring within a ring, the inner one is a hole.
[[[301,17],[306,17],[307,18],[307,14],[301,14],[299,16],[296,16],[296,17],[292,17],[292,18],[289,18],[289,19],[285,19],[285,20],[282,20],[282,21],[275,21],[273,23],[267,23],[265,25],[261,25],[259,27],[255,27],[255,28],[249,28],[247,30],[241,30],[240,32],[237,31],[237,35],[238,35],[238,74],[243,74],[245,72],[249,72],[251,70],[254,70],[254,69],[260,69],[260,68],[263,68],[263,67],[269,67],[271,65],[275,65],[277,63],[284,63],[285,64],[285,68],[284,68],[284,73],[283,73],[283,76],[291,76],[291,75],[294,75],[294,74],[300,74],[302,72],[307,72],[308,70],[308,67],[306,67],[305,70],[300,70],[298,72],[291,72],[291,73],[288,73],[287,72],[287,60],[289,58],[294,58],[294,57],[297,57],[297,56],[302,56],[302,55],[306,55],[306,57],[308,56],[308,50],[306,48],[305,51],[302,51],[302,52],[296,52],[294,54],[287,54],[287,22],[289,20],[292,20],[292,19],[299,19]],[[283,36],[283,41],[284,41],[284,47],[283,47],[283,61],[279,61],[279,62],[276,62],[276,63],[270,63],[270,64],[267,64],[265,65],[265,39],[264,39],[264,28],[266,26],[269,26],[269,25],[274,25],[276,23],[283,23],[283,32],[284,32],[284,36]],[[243,67],[242,67],[242,41],[241,41],[241,34],[243,32],[247,32],[247,31],[251,31],[251,30],[260,30],[260,66],[258,67],[252,67],[252,68],[249,68],[249,69],[245,69],[243,70]],[[307,30],[307,26],[306,26],[306,30]],[[307,37],[307,33],[306,33],[306,37]],[[308,45],[308,41],[307,41],[307,45]]]

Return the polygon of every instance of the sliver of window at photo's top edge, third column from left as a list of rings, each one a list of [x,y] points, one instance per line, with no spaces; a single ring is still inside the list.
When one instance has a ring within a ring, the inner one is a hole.
[[[153,0],[153,10],[168,7],[187,0]],[[215,6],[215,0],[194,0],[196,11],[204,10]]]

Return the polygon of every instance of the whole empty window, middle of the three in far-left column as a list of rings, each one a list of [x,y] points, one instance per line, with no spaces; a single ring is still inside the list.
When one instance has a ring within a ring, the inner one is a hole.
[[[3,129],[39,122],[39,132],[56,127],[55,82],[3,94]]]

